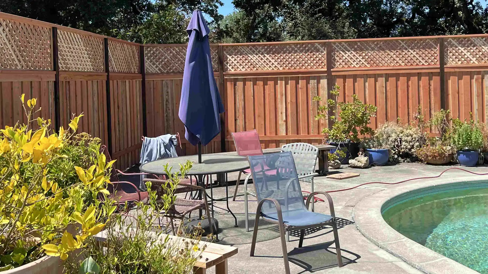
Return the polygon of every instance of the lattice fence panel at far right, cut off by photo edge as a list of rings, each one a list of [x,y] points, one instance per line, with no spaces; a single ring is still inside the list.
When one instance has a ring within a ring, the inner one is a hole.
[[[447,65],[488,63],[488,38],[445,38],[444,56]]]

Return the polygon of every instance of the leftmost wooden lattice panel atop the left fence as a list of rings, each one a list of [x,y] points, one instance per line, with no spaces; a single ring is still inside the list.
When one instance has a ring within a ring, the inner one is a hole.
[[[52,69],[51,29],[0,19],[0,68]]]

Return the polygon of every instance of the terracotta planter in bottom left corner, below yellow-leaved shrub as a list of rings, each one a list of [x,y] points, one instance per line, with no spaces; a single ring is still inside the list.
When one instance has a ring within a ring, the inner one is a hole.
[[[0,272],[0,274],[62,274],[60,257],[44,256],[26,265]]]

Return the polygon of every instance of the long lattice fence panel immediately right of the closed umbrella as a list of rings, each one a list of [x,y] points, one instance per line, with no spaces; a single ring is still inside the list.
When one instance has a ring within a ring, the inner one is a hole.
[[[327,69],[325,43],[224,46],[224,71]]]

